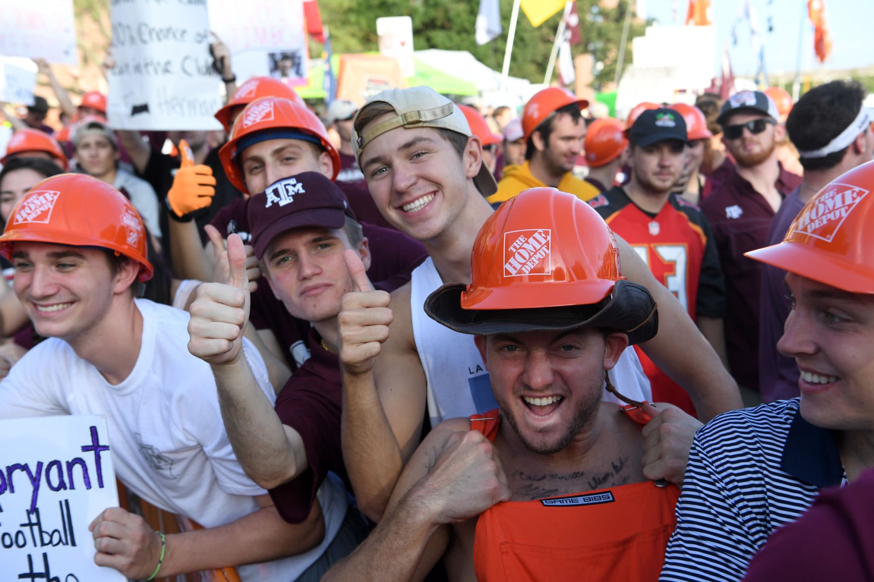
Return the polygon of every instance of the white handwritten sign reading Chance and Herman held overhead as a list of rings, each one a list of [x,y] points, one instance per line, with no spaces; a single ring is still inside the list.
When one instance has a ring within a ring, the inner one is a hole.
[[[219,129],[205,0],[112,0],[109,123],[118,129]]]

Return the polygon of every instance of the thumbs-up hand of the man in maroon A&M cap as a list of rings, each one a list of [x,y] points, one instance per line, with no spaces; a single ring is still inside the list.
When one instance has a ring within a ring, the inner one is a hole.
[[[224,281],[203,283],[191,303],[188,350],[210,364],[236,364],[241,357],[243,332],[249,319],[249,280],[246,250],[239,234],[227,238]]]

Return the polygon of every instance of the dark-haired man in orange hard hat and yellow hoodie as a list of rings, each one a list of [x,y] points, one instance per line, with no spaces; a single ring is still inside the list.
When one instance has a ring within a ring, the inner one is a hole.
[[[509,200],[526,188],[553,186],[583,200],[598,194],[588,182],[572,175],[583,152],[586,120],[580,109],[589,102],[566,89],[547,87],[534,94],[522,111],[526,162],[504,172],[489,203]]]

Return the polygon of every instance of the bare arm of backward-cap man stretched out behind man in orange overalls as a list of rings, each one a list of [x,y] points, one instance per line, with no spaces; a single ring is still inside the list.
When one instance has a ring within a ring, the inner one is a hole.
[[[698,418],[706,421],[720,412],[743,406],[737,383],[680,301],[655,280],[649,267],[625,240],[617,236],[616,241],[622,274],[648,288],[658,304],[658,334],[641,345],[643,351],[689,393]]]

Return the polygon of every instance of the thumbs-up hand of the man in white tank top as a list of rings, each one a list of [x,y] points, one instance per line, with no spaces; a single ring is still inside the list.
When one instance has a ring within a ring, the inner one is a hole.
[[[340,363],[347,373],[359,375],[373,368],[382,344],[388,339],[388,326],[394,314],[388,307],[391,296],[373,289],[358,253],[347,249],[343,260],[349,269],[353,291],[343,295],[337,316]]]

